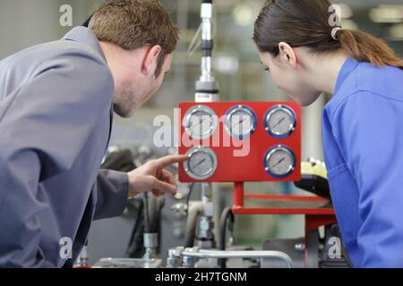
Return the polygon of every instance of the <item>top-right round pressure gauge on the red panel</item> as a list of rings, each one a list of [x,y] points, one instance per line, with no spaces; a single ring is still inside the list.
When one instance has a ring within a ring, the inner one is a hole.
[[[273,106],[264,117],[264,128],[274,138],[287,138],[296,130],[296,114],[287,105]]]

